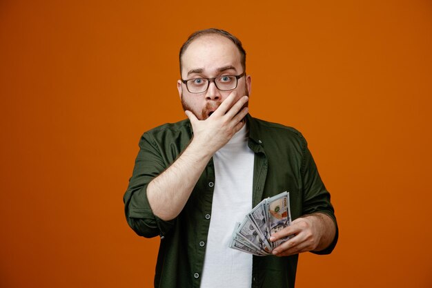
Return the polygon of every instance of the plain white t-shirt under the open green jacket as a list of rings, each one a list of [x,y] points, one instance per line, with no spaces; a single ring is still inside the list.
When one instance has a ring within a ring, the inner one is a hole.
[[[246,125],[213,155],[215,190],[201,287],[251,288],[252,255],[229,244],[235,223],[252,209],[253,161]]]

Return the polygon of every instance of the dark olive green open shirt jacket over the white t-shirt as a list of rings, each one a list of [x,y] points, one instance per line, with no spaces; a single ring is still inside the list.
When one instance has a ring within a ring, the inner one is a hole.
[[[255,152],[252,207],[283,191],[290,193],[291,216],[320,212],[336,224],[330,194],[326,190],[306,140],[294,128],[246,116],[248,146]],[[164,124],[144,133],[140,151],[124,195],[128,224],[146,238],[159,236],[155,287],[199,287],[204,265],[208,227],[213,200],[215,167],[208,162],[186,206],[177,218],[164,221],[148,204],[148,183],[172,164],[184,151],[193,135],[186,119]],[[337,227],[337,224],[336,224]],[[337,242],[319,254],[331,253]],[[252,287],[294,287],[298,255],[288,257],[253,256]]]

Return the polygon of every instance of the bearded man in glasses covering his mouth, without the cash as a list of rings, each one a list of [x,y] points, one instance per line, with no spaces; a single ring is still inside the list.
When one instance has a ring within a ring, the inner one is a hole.
[[[337,224],[306,140],[248,114],[251,76],[241,42],[195,32],[179,55],[188,117],[144,133],[124,196],[140,236],[160,236],[155,287],[294,287],[298,253],[330,253]],[[293,236],[271,256],[230,249],[235,222],[262,199],[290,193]]]

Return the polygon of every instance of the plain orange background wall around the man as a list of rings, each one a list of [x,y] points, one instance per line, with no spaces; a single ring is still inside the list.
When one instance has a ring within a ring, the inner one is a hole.
[[[332,193],[339,244],[296,287],[432,287],[431,1],[37,2],[0,2],[1,287],[153,285],[159,240],[122,197],[141,133],[185,118],[177,53],[209,27]]]

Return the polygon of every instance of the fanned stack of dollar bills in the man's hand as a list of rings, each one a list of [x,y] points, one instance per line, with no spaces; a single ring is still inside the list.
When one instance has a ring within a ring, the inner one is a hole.
[[[262,200],[249,212],[242,223],[236,223],[230,248],[256,256],[271,255],[273,248],[288,237],[270,242],[270,237],[291,225],[289,193],[282,192]]]

